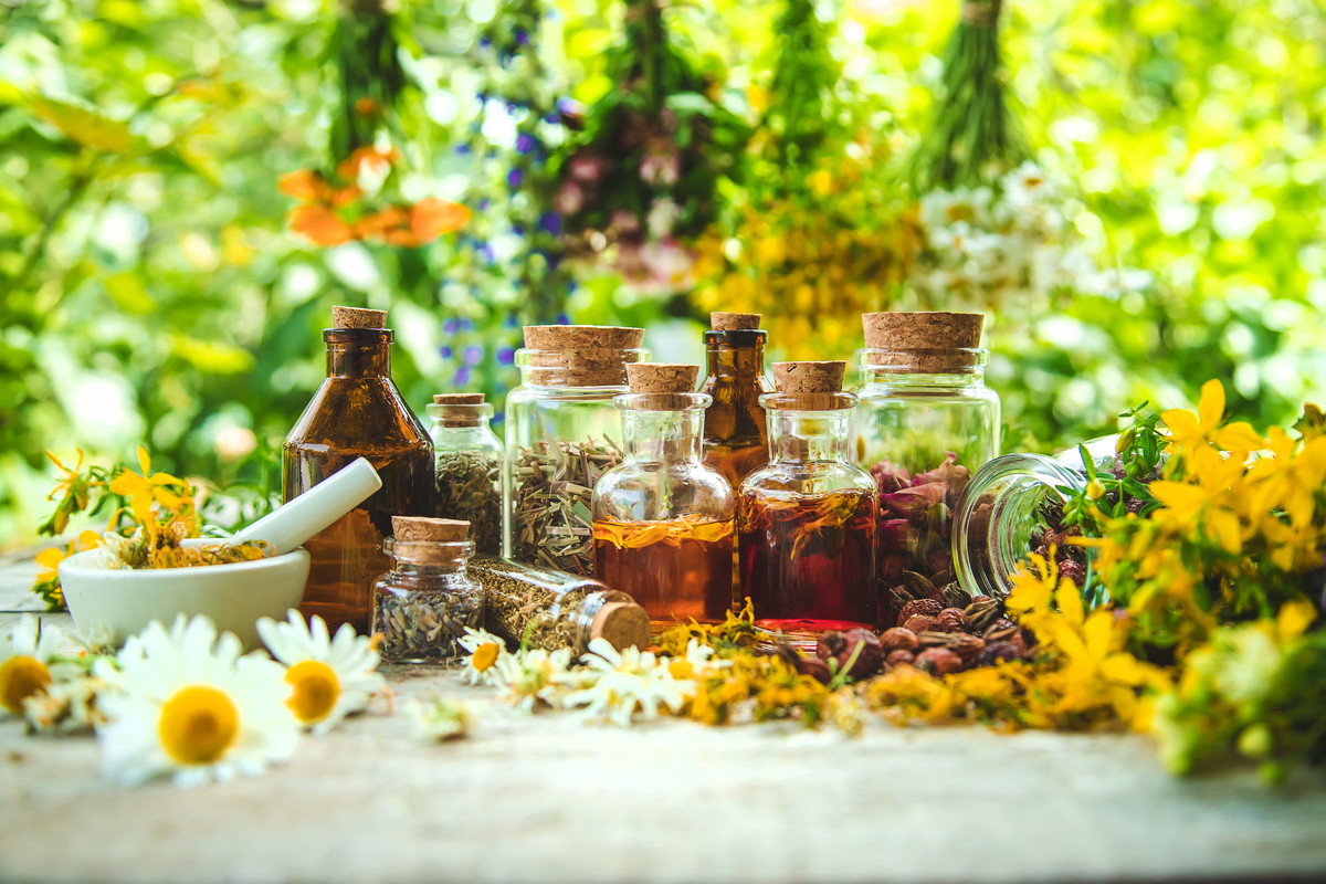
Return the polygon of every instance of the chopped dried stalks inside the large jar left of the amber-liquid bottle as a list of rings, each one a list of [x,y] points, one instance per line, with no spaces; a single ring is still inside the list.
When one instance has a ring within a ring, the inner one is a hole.
[[[622,449],[602,443],[558,440],[521,448],[516,460],[512,554],[521,562],[572,574],[594,574],[591,502],[599,477],[622,463]]]

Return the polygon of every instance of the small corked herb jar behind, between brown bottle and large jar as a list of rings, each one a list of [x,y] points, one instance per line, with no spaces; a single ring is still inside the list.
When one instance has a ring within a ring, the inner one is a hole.
[[[475,551],[501,554],[501,441],[488,425],[493,407],[481,392],[451,392],[434,396],[427,411],[438,518],[469,522]]]

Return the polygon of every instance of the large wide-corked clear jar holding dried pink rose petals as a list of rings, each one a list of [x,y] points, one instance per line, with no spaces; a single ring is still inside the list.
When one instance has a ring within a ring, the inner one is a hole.
[[[971,473],[998,453],[1000,402],[985,386],[980,313],[867,313],[851,459],[879,489],[884,603],[903,573],[953,579],[951,513]],[[912,577],[915,592],[915,577]],[[892,626],[891,608],[880,623]]]

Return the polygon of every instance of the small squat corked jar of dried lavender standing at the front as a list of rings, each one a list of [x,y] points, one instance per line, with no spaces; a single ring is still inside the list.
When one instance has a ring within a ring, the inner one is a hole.
[[[391,520],[383,543],[394,567],[373,584],[373,631],[385,663],[435,663],[459,653],[465,627],[479,628],[483,587],[465,573],[475,553],[469,524],[404,517]]]

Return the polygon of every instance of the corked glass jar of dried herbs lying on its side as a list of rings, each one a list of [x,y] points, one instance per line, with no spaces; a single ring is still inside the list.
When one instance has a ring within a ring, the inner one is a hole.
[[[622,648],[650,643],[650,616],[626,592],[598,580],[504,558],[476,558],[484,627],[516,644],[583,653],[594,639]]]

